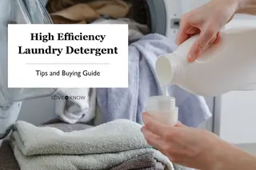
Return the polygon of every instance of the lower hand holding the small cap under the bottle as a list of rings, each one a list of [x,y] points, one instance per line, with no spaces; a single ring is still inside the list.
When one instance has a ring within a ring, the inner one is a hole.
[[[176,127],[162,125],[143,114],[142,132],[148,142],[177,164],[198,169],[222,169],[222,152],[232,146],[211,132],[188,128],[181,123]]]

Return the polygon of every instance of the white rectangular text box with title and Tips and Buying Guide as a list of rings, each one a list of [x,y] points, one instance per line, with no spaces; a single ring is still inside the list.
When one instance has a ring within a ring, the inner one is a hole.
[[[9,25],[9,88],[127,88],[128,25]]]

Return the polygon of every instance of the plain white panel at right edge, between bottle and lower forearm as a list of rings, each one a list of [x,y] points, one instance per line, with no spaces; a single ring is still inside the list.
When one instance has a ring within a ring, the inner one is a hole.
[[[256,91],[222,96],[220,137],[234,144],[256,143]]]

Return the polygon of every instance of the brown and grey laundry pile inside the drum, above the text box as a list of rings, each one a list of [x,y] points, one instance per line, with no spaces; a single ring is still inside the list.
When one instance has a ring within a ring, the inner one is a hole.
[[[130,43],[150,33],[149,26],[132,19],[136,14],[132,10],[131,1],[50,0],[46,9],[54,24],[128,24]]]

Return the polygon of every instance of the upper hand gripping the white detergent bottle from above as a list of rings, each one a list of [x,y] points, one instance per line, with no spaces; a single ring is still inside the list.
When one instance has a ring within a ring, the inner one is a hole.
[[[240,0],[212,0],[183,15],[177,44],[180,45],[191,36],[199,34],[190,49],[188,61],[195,61],[209,45],[218,43],[218,33],[233,18],[238,10],[238,1]]]

